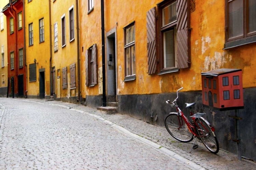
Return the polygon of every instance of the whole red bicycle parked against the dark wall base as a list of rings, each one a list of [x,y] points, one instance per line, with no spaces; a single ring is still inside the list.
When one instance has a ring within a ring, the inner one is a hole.
[[[192,123],[190,123],[178,107],[176,101],[179,97],[178,92],[182,89],[183,87],[177,90],[177,98],[173,102],[170,102],[169,100],[166,101],[166,103],[171,104],[172,107],[175,106],[177,110],[177,113],[171,112],[165,119],[165,127],[167,131],[173,138],[181,142],[190,142],[194,137],[195,142],[191,150],[198,148],[198,144],[195,143],[197,142],[197,138],[199,138],[210,152],[214,154],[218,153],[219,143],[214,133],[215,129],[205,118],[202,117],[205,113],[194,114],[191,110],[196,103],[185,103],[186,108],[190,109],[189,112],[192,121]]]

